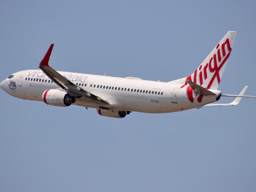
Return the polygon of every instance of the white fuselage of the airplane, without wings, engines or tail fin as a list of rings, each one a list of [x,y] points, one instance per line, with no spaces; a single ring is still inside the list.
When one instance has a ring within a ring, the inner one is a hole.
[[[209,95],[204,96],[202,102],[198,102],[198,95],[193,93],[195,101],[191,103],[186,92],[187,86],[181,88],[181,84],[172,82],[166,83],[139,78],[117,78],[61,71],[59,73],[79,87],[110,101],[110,105],[80,100],[76,100],[73,103],[83,107],[99,108],[100,106],[110,106],[112,110],[118,111],[169,113],[201,107],[216,101],[216,95]],[[15,85],[13,82],[15,82]],[[42,94],[46,89],[61,89],[41,70],[24,70],[14,73],[13,78],[7,78],[1,83],[1,87],[14,97],[35,101],[43,101]],[[215,92],[217,95],[220,94],[217,90]]]

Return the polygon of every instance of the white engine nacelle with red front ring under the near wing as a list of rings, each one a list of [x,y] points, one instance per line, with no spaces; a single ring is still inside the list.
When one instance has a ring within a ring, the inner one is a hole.
[[[70,97],[65,91],[59,89],[47,89],[43,92],[43,101],[49,105],[67,107],[75,102],[75,98]]]

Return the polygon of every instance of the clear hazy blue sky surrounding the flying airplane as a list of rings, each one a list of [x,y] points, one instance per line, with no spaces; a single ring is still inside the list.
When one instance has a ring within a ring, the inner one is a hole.
[[[2,70],[171,81],[238,31],[219,89],[256,95],[254,1],[2,1]],[[255,192],[256,100],[178,113],[54,107],[0,90],[0,191]],[[230,99],[221,98],[220,102]]]

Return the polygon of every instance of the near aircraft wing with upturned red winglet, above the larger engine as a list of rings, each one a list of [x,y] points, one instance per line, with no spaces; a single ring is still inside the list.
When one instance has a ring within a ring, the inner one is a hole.
[[[101,101],[103,103],[109,104],[107,100],[104,100],[103,98],[83,89],[82,87],[79,87],[78,85],[75,85],[71,81],[69,81],[67,78],[59,74],[56,70],[54,70],[50,65],[48,64],[48,61],[50,59],[50,55],[52,53],[52,48],[54,44],[50,45],[50,48],[45,54],[45,57],[39,64],[39,68],[50,78],[54,83],[59,85],[62,89],[66,90],[70,96],[74,97],[81,97],[85,96],[89,100],[94,100],[94,101]]]

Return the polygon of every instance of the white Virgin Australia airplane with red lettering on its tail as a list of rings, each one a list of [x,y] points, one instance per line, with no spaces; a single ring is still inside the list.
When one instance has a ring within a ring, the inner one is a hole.
[[[0,84],[11,96],[67,107],[79,105],[95,108],[102,116],[124,118],[132,111],[171,113],[203,106],[237,105],[248,86],[239,95],[218,90],[236,31],[228,31],[195,71],[169,82],[141,78],[118,78],[93,74],[56,71],[49,65],[54,44],[39,64],[39,70],[22,70]],[[214,103],[221,97],[236,97],[231,103]]]

